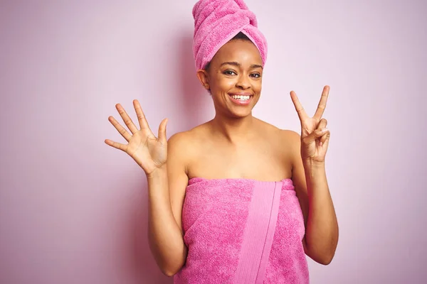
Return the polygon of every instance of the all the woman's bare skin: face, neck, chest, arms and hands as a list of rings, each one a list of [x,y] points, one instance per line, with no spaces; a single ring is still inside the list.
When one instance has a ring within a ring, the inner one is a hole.
[[[139,129],[117,104],[128,133],[110,116],[128,144],[105,140],[125,151],[142,167],[149,186],[149,244],[165,275],[174,275],[186,261],[181,212],[191,178],[248,178],[279,181],[292,178],[305,219],[302,244],[318,263],[332,261],[338,241],[337,219],[325,174],[330,138],[322,119],[329,87],[315,116],[305,114],[295,92],[290,96],[301,121],[301,135],[281,130],[252,116],[260,98],[263,67],[258,49],[246,40],[232,40],[218,50],[209,70],[199,70],[216,109],[211,121],[166,139],[165,119],[158,137],[149,129],[139,102],[134,101]],[[245,94],[244,104],[231,95]]]

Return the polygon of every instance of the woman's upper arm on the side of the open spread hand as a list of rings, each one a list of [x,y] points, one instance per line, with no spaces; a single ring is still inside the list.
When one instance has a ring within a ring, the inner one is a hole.
[[[167,175],[172,213],[182,231],[182,207],[189,178],[186,175],[185,134],[176,133],[169,138],[167,145]],[[184,233],[183,233],[184,234]]]

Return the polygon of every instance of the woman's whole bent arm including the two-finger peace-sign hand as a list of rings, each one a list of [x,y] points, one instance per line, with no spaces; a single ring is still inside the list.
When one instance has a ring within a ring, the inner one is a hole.
[[[322,119],[329,94],[325,86],[315,116],[305,114],[295,92],[291,92],[301,121],[301,135],[292,135],[292,182],[305,221],[302,240],[305,253],[317,263],[329,264],[338,243],[338,223],[327,185],[325,155],[330,139],[327,121]]]

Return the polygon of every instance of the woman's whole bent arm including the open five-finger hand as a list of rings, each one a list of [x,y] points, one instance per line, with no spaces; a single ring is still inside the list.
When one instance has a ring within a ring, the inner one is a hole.
[[[130,155],[147,175],[149,195],[148,237],[149,246],[157,265],[165,275],[172,276],[186,261],[187,249],[181,225],[181,211],[188,178],[185,170],[186,143],[176,134],[167,141],[164,119],[154,136],[137,100],[133,102],[139,129],[120,104],[117,111],[125,122],[127,131],[114,117],[108,119],[125,138],[127,144],[105,139],[107,145]]]

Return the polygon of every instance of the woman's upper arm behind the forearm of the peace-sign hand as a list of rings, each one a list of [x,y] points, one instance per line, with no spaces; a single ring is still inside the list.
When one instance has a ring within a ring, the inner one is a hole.
[[[288,131],[288,141],[290,142],[290,156],[292,163],[292,183],[295,187],[295,193],[300,202],[300,207],[302,215],[304,217],[304,226],[307,228],[307,218],[308,218],[308,192],[307,192],[307,182],[305,180],[305,170],[304,165],[302,164],[301,158],[301,136],[295,131]],[[305,247],[305,237],[302,240],[302,244]],[[307,253],[307,251],[306,251]]]

